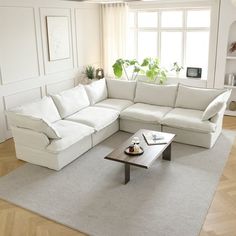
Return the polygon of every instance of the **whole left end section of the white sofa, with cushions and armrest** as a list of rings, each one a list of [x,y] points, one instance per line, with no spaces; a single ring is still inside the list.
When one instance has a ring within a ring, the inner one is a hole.
[[[92,127],[62,120],[51,97],[8,112],[18,159],[59,170],[92,147]]]

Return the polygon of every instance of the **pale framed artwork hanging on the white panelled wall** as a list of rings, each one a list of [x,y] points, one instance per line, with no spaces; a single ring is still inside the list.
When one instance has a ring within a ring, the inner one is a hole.
[[[70,58],[69,20],[67,16],[46,16],[49,61]]]

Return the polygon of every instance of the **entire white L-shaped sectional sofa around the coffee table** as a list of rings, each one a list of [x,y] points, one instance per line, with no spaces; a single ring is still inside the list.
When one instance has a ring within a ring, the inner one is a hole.
[[[60,170],[118,130],[211,148],[230,90],[102,79],[7,112],[18,159]]]

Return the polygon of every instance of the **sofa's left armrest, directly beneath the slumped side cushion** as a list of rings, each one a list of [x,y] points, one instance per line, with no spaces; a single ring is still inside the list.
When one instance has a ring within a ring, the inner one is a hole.
[[[30,129],[11,127],[14,142],[17,145],[24,145],[35,149],[45,149],[50,143],[44,133],[39,133]]]

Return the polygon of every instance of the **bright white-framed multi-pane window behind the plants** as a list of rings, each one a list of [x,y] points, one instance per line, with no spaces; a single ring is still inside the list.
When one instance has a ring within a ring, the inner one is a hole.
[[[131,10],[127,54],[140,62],[148,56],[158,57],[168,71],[174,62],[185,69],[201,67],[206,78],[209,32],[209,8]],[[185,75],[185,71],[182,73]]]

